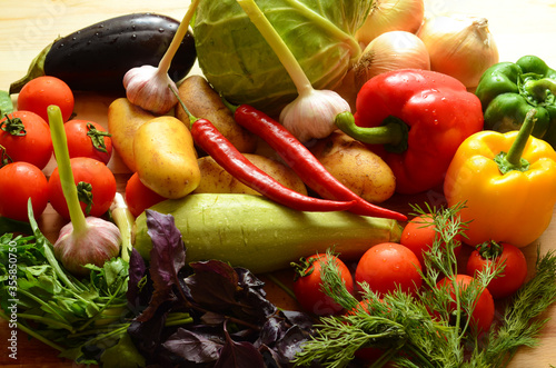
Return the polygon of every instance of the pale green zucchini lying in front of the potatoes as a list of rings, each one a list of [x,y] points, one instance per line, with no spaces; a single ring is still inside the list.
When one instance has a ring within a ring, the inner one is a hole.
[[[151,207],[170,213],[181,231],[187,261],[219,259],[252,272],[270,272],[332,248],[356,259],[369,247],[398,241],[396,220],[351,212],[301,212],[261,196],[193,193]],[[142,212],[135,223],[135,248],[149,259],[152,242]]]

